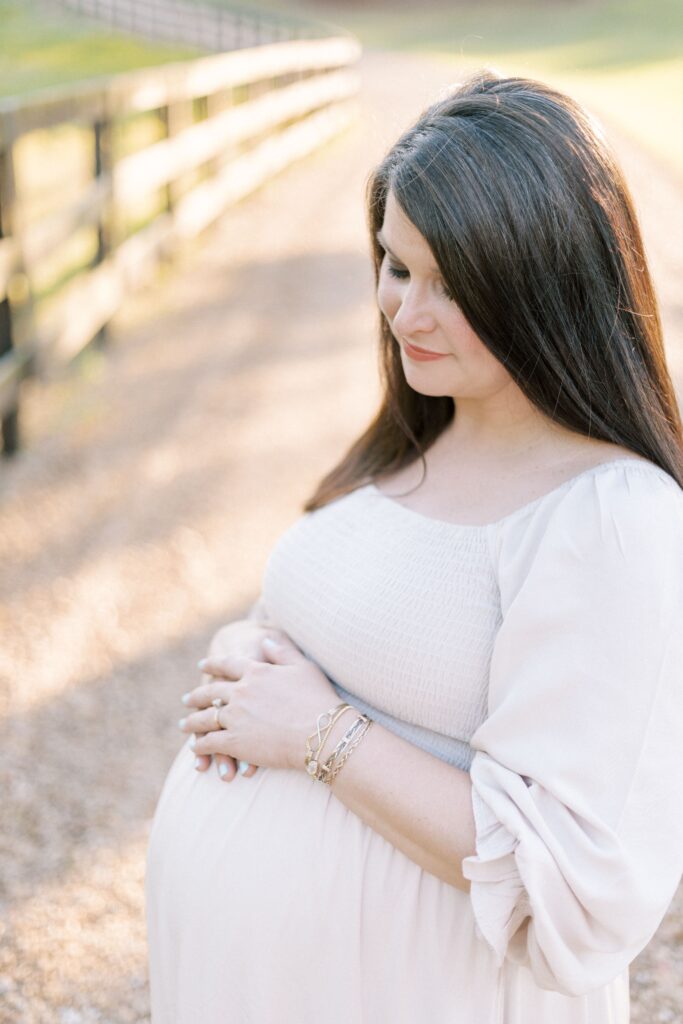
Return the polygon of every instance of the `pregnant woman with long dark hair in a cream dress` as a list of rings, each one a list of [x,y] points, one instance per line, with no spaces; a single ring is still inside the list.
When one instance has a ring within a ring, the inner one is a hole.
[[[585,111],[487,72],[368,204],[383,400],[183,697],[153,1022],[626,1024],[683,870],[683,434],[634,209]]]

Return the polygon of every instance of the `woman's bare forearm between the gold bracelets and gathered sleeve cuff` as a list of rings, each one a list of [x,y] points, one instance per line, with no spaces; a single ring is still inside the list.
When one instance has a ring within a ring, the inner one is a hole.
[[[335,723],[324,757],[332,753],[353,718],[347,712]],[[304,756],[302,750],[303,770]],[[475,853],[468,772],[374,722],[331,785],[349,810],[407,857],[469,892],[470,883],[461,871],[463,858]]]

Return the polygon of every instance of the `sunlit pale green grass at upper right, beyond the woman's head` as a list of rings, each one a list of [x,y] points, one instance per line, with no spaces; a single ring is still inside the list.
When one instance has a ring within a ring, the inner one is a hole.
[[[680,0],[428,0],[424,6],[267,0],[266,6],[317,15],[349,29],[366,47],[430,55],[443,62],[445,81],[482,65],[542,78],[683,174]]]

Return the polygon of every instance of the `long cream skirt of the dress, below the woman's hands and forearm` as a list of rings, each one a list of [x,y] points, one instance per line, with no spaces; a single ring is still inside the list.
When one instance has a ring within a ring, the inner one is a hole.
[[[468,894],[303,770],[223,782],[193,765],[185,743],[150,839],[153,1024],[628,1020],[628,972],[571,998],[499,971]]]

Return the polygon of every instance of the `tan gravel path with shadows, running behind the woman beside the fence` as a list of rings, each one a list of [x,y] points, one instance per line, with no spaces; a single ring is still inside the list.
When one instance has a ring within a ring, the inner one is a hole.
[[[143,858],[178,697],[374,408],[365,180],[451,77],[378,53],[361,72],[354,127],[129,303],[105,357],[34,390],[1,469],[0,1024],[147,1020]],[[618,146],[681,379],[680,190]],[[634,967],[635,1024],[683,1021],[682,940],[679,896]]]

